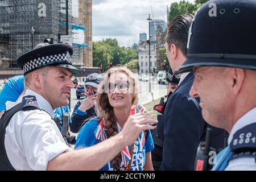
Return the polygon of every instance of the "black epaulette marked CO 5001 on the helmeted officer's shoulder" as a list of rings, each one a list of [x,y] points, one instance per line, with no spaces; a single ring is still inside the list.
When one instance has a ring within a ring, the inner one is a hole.
[[[234,153],[230,160],[240,157],[256,158],[256,123],[243,127],[233,135],[230,150]]]

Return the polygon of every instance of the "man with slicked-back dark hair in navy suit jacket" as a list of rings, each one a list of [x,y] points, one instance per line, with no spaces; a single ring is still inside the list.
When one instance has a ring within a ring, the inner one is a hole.
[[[194,18],[191,14],[176,16],[166,35],[166,55],[173,71],[187,57],[188,31]],[[205,139],[207,123],[201,116],[199,98],[189,97],[193,73],[180,76],[179,86],[168,98],[163,113],[163,162],[161,170],[193,170],[196,150]],[[224,131],[213,129],[210,146],[224,146]],[[160,136],[160,132],[159,132]]]

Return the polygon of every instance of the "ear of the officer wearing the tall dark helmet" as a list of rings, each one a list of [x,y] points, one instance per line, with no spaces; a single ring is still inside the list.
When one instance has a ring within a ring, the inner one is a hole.
[[[239,94],[243,86],[245,86],[245,69],[231,68],[232,69],[232,89],[234,94]]]

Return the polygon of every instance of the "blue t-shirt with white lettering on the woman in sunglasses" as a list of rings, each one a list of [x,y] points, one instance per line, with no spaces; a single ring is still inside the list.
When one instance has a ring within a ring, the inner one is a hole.
[[[96,139],[96,136],[94,134],[94,131],[97,129],[98,121],[95,118],[90,119],[88,122],[85,123],[84,126],[82,126],[81,130],[79,131],[79,135],[76,139],[76,146],[75,149],[81,149],[84,147],[90,147],[94,144],[97,144],[99,142],[98,139]],[[130,150],[130,146],[128,146]],[[147,132],[147,139],[146,144],[141,146],[139,142],[139,138],[134,143],[133,148],[133,156],[132,156],[132,163],[131,163],[131,171],[142,171],[143,166],[145,164],[146,160],[146,153],[151,152],[154,150],[154,142],[152,139],[151,132],[148,130]],[[121,159],[120,159],[121,163]],[[121,166],[121,169],[123,169],[124,166]],[[114,170],[114,167],[112,165],[112,162],[108,162],[103,168],[100,169],[101,171],[112,171]]]

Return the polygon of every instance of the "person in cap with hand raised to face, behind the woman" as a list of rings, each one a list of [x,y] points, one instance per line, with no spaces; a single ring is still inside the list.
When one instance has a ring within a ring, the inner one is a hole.
[[[96,116],[96,93],[101,81],[102,76],[98,73],[92,73],[86,77],[84,85],[85,98],[77,102],[71,116],[71,123],[69,123],[70,130],[73,133],[79,132],[82,123],[86,119]]]

